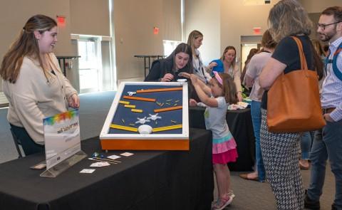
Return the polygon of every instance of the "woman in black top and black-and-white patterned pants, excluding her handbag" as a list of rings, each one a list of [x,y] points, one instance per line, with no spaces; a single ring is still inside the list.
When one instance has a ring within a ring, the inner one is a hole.
[[[322,75],[323,63],[309,39],[312,23],[298,1],[282,0],[275,4],[269,12],[269,25],[278,45],[259,78],[261,88],[266,90],[261,100],[261,153],[277,209],[304,209],[304,189],[298,163],[301,132],[269,132],[267,100],[272,99],[267,98],[267,90],[281,73],[301,69],[298,47],[291,36],[301,41],[309,69]]]

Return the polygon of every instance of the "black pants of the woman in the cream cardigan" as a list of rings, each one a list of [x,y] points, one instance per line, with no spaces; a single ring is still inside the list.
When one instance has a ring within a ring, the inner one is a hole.
[[[14,132],[14,135],[16,135],[16,138],[19,140],[18,143],[21,144],[21,147],[23,147],[26,156],[29,154],[45,151],[44,145],[38,145],[36,142],[34,142],[24,127],[11,125],[11,129]]]

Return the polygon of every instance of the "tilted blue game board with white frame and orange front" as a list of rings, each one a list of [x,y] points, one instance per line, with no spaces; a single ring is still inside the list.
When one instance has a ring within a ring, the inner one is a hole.
[[[120,83],[100,133],[102,149],[189,150],[187,93],[187,83]],[[144,121],[152,133],[138,131]]]

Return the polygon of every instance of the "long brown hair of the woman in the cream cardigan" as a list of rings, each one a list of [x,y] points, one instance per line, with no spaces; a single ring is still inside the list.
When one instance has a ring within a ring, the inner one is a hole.
[[[34,31],[44,33],[57,26],[55,20],[41,14],[32,16],[21,29],[18,38],[11,44],[9,51],[5,54],[0,67],[0,75],[4,80],[10,83],[16,83],[20,73],[21,65],[25,56],[37,59],[44,74],[43,62],[39,56],[38,41],[34,36]]]

